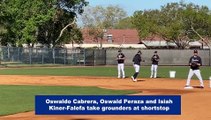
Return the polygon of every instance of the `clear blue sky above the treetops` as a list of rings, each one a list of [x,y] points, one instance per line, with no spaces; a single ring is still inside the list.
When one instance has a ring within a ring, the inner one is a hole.
[[[90,6],[108,6],[119,5],[127,14],[133,15],[137,10],[160,9],[161,6],[171,2],[180,2],[181,0],[86,0]],[[196,5],[206,5],[211,9],[211,0],[183,0],[185,3],[194,3]]]

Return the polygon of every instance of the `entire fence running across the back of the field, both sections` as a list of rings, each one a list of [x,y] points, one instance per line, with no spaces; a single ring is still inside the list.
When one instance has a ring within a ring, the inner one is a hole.
[[[116,65],[118,49],[67,49],[67,48],[21,48],[0,47],[1,65]],[[123,49],[125,65],[132,65],[137,49]],[[151,65],[151,56],[155,49],[142,50],[142,65]],[[187,65],[193,50],[157,49],[160,65]],[[210,50],[199,50],[203,65],[211,64]]]

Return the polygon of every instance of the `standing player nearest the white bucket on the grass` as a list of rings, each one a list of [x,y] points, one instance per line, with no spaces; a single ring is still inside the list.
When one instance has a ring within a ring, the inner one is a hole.
[[[160,57],[157,54],[157,51],[154,52],[154,55],[151,57],[152,66],[151,66],[151,75],[150,78],[157,78],[157,68],[158,68],[158,62]]]

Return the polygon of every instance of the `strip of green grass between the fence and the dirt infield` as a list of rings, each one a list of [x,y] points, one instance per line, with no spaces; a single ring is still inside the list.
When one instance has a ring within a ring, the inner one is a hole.
[[[176,78],[186,79],[188,66],[159,66],[158,77],[169,78],[169,71],[176,71]],[[134,73],[132,66],[125,67],[126,76]],[[211,76],[211,67],[201,67],[203,79],[207,80]],[[54,75],[54,76],[106,76],[117,77],[116,66],[108,67],[70,67],[70,68],[9,68],[1,69],[0,75]],[[150,76],[150,66],[142,66],[139,77],[148,78]],[[196,79],[193,77],[193,79]]]

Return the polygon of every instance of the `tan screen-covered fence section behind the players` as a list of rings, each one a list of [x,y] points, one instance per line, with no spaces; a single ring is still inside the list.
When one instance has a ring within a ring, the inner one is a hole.
[[[132,59],[139,49],[122,49],[126,59],[125,65],[133,65]],[[141,62],[142,65],[149,66],[152,64],[151,57],[154,51],[158,52],[160,57],[159,65],[189,65],[189,59],[193,56],[193,50],[191,49],[142,49],[142,59],[145,62]],[[198,50],[199,56],[202,59],[203,66],[211,66],[211,52],[208,49]],[[106,65],[116,65],[116,56],[118,49],[107,49],[106,50]]]

